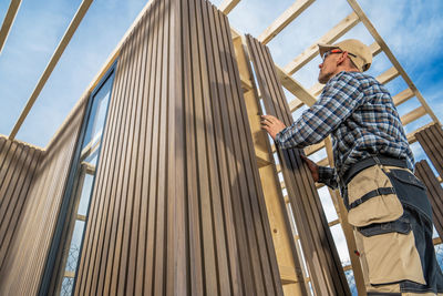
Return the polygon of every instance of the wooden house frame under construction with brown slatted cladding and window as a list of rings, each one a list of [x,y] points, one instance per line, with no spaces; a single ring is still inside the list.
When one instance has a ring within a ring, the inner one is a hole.
[[[0,295],[359,295],[364,279],[340,193],[329,190],[338,220],[328,222],[300,155],[279,150],[260,114],[287,125],[312,105],[321,84],[292,74],[358,23],[373,55],[401,78],[395,105],[416,98],[403,125],[427,162],[415,174],[429,188],[443,237],[443,131],[423,95],[356,0],[352,13],[287,64],[266,44],[315,0],[296,0],[259,35],[231,28],[239,0],[152,0],[86,89],[47,147],[16,140],[24,119],[87,12],[83,0],[9,136],[0,136]],[[0,51],[19,11],[11,0]],[[285,91],[295,99],[288,101]],[[277,155],[277,156],[276,156]],[[275,157],[276,156],[276,157]],[[351,264],[342,266],[330,227],[341,224]]]

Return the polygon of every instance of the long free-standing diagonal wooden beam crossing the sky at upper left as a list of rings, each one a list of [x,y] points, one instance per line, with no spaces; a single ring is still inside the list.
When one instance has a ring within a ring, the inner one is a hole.
[[[28,100],[27,105],[24,106],[19,120],[17,121],[16,125],[13,126],[11,134],[9,135],[10,140],[13,140],[19,132],[21,125],[23,124],[24,119],[28,116],[29,112],[31,111],[32,105],[35,103],[37,98],[39,96],[40,92],[42,91],[44,84],[47,83],[49,76],[51,75],[52,71],[54,70],[56,63],[62,57],[64,50],[66,49],[71,38],[74,35],[76,28],[79,28],[80,22],[82,21],[84,14],[86,14],[87,9],[90,8],[92,0],[83,0],[79,10],[76,11],[74,18],[72,19],[70,25],[68,27],[66,32],[64,33],[62,40],[60,41],[59,45],[56,47],[54,53],[52,54],[51,60],[49,61],[47,68],[43,71],[39,82],[35,85],[34,91],[32,92],[31,96]]]

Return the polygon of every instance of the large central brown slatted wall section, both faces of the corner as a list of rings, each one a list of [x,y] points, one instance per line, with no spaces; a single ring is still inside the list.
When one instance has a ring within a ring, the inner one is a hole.
[[[125,40],[75,295],[282,295],[234,57],[203,0]]]

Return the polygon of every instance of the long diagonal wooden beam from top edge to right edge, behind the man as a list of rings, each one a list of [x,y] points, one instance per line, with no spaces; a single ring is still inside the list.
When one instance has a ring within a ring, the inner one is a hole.
[[[384,42],[384,40],[381,38],[379,32],[375,30],[371,21],[368,19],[367,14],[363,12],[359,3],[357,3],[356,0],[348,0],[348,3],[351,6],[353,11],[359,16],[360,20],[363,22],[363,24],[367,27],[368,31],[371,33],[373,39],[380,44],[381,49],[383,50],[384,54],[388,57],[388,59],[391,61],[391,63],[395,67],[395,69],[399,71],[400,75],[403,78],[404,82],[406,82],[408,86],[414,92],[416,99],[420,101],[420,103],[424,106],[426,110],[426,113],[430,114],[431,119],[435,123],[440,123],[439,119],[434,114],[434,112],[431,110],[426,101],[424,100],[423,95],[420,93],[420,91],[416,89],[415,84],[412,82],[410,76],[408,75],[406,71],[404,71],[403,67],[396,60],[395,55],[392,53],[388,44]]]

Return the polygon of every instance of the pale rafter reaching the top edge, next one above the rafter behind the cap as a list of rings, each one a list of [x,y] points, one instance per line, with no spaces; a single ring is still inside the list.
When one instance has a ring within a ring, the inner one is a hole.
[[[310,4],[316,0],[296,0],[280,17],[278,17],[259,37],[258,40],[267,44],[271,41],[281,30],[291,23],[298,16],[300,16]]]

